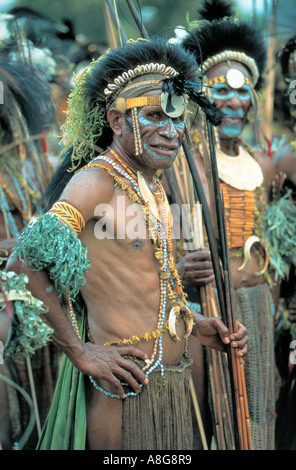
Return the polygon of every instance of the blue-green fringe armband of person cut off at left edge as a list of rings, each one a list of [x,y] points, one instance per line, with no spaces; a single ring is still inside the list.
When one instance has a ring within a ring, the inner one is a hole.
[[[32,296],[26,288],[29,282],[25,274],[0,271],[0,309],[9,302],[14,314],[9,339],[4,348],[5,357],[17,354],[34,354],[43,347],[53,333],[40,318],[47,308],[41,300]]]

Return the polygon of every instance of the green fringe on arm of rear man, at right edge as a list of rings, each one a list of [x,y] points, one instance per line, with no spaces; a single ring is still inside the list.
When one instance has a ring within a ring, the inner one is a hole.
[[[276,279],[288,278],[296,265],[296,205],[290,192],[267,206],[263,231]]]

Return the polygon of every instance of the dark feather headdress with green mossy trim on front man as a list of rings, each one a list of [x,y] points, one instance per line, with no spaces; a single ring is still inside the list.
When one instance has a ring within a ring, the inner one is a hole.
[[[184,95],[188,91],[189,99],[200,104],[204,112],[215,121],[215,111],[220,111],[196,90],[201,86],[198,64],[194,54],[186,51],[179,44],[168,44],[160,38],[132,41],[124,46],[110,50],[82,73],[70,96],[67,120],[64,130],[70,145],[79,149],[83,159],[91,158],[92,150],[85,142],[106,149],[112,141],[112,130],[107,122],[107,102],[105,89],[108,84],[130,69],[141,64],[159,63],[174,68],[177,77],[170,80],[169,94]],[[189,83],[195,84],[195,90]],[[185,84],[187,88],[185,90]],[[198,90],[199,91],[199,90]],[[73,112],[72,112],[73,109]],[[214,123],[214,122],[213,122]],[[94,150],[93,150],[94,152]],[[95,152],[94,152],[95,153]]]

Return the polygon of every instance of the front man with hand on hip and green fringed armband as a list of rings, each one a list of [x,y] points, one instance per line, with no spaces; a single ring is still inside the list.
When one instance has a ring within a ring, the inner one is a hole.
[[[236,340],[246,353],[242,325],[229,338],[221,320],[187,308],[155,177],[180,149],[187,99],[219,122],[196,72],[180,46],[139,40],[77,80],[48,212],[9,266],[28,274],[66,355],[38,449],[191,449],[188,336],[218,349]]]

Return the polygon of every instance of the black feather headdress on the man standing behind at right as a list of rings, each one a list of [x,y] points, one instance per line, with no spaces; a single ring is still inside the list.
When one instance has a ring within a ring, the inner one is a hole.
[[[182,45],[195,54],[199,63],[223,51],[243,52],[258,68],[255,90],[262,88],[267,51],[260,31],[236,19],[232,4],[226,0],[204,0],[198,14],[200,26],[182,40]]]

